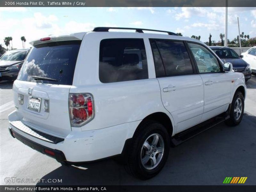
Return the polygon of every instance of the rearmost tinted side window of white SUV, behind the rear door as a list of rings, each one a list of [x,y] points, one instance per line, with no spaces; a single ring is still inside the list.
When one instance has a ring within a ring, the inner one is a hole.
[[[148,78],[143,39],[104,39],[100,42],[99,77],[102,83]]]

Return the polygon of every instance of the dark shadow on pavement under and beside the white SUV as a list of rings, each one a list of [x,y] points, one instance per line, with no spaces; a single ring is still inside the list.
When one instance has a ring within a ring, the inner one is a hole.
[[[37,185],[221,185],[227,176],[246,176],[246,184],[255,185],[255,127],[256,116],[251,115],[235,127],[212,127],[171,148],[163,170],[150,180],[133,178],[109,159],[85,168],[60,166]],[[48,179],[62,182],[46,183]]]

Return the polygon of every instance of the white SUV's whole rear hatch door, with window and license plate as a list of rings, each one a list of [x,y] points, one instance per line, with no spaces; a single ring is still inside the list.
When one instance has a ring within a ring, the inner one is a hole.
[[[58,41],[32,48],[13,84],[23,124],[62,137],[71,131],[68,95],[80,44],[81,40]]]

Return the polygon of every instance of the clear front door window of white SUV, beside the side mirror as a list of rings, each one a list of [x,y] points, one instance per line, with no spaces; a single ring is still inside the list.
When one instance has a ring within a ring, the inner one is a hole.
[[[199,73],[220,72],[220,65],[217,58],[208,49],[194,43],[188,43],[188,46],[194,55]]]

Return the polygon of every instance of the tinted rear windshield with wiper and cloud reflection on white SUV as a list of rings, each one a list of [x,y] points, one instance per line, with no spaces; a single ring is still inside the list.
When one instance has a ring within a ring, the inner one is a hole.
[[[81,41],[63,41],[36,45],[25,60],[18,80],[72,85]],[[35,80],[32,76],[55,79]]]

